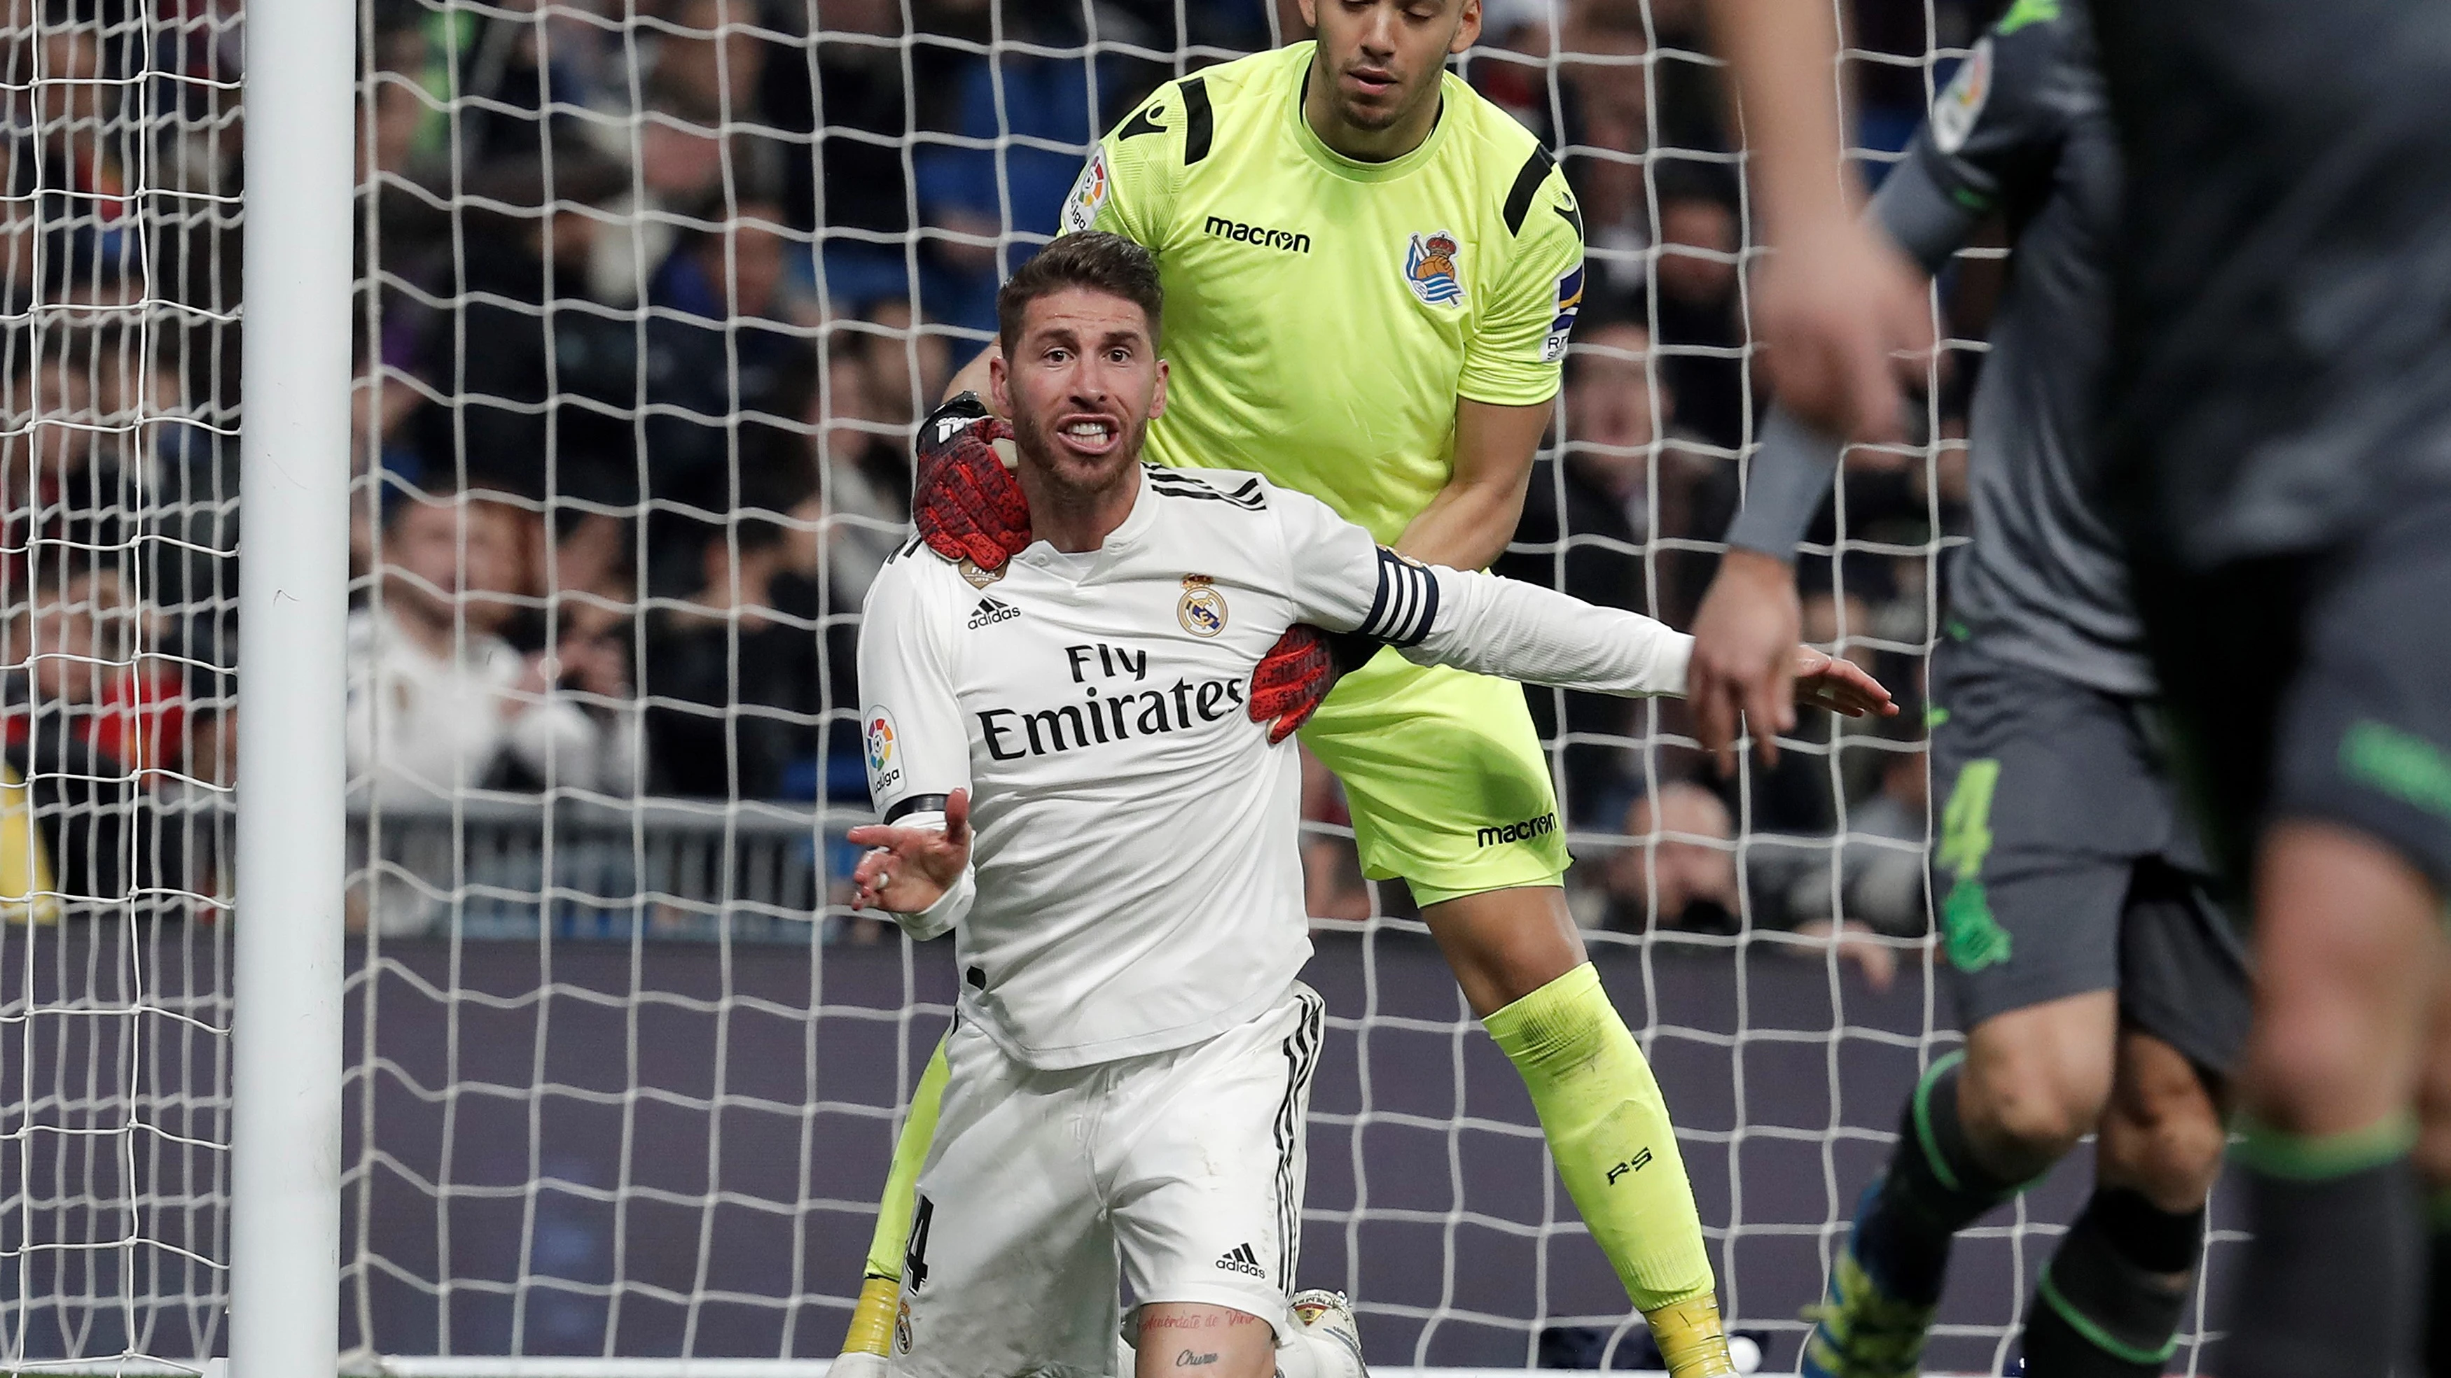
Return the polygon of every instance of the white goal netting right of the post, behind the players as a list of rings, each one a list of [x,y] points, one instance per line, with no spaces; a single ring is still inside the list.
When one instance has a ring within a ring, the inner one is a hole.
[[[1985,10],[1841,2],[1870,171]],[[1493,0],[1461,61],[1566,164],[1593,262],[1505,568],[1676,624],[1762,404],[1701,17]],[[1297,29],[1262,0],[360,0],[346,1346],[833,1354],[953,989],[941,950],[838,903],[865,810],[848,649],[912,421],[1088,140]],[[1956,365],[1998,259],[1936,296]],[[1917,707],[1961,416],[1944,387],[1922,443],[1851,460],[1814,536],[1841,556],[1804,563],[1809,634]],[[1674,707],[1534,705],[1730,1324],[1792,1366],[1902,1094],[1953,1045],[1922,734],[1809,724],[1721,783]],[[1623,1339],[1520,1082],[1402,891],[1360,881],[1333,783],[1309,795],[1336,1040],[1306,1280],[1355,1295],[1382,1363]],[[1961,1243],[1936,1363],[2005,1356],[2081,1190],[2074,1165]]]

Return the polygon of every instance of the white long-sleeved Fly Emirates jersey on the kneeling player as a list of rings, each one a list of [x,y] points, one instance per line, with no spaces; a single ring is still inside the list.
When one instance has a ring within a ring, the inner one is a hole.
[[[1691,641],[1534,585],[1412,563],[1257,475],[1142,467],[1093,553],[983,573],[904,543],[860,619],[868,791],[939,822],[971,791],[961,1011],[1012,1057],[1081,1067],[1199,1043],[1284,999],[1311,955],[1294,742],[1250,720],[1297,622],[1424,663],[1681,693]]]

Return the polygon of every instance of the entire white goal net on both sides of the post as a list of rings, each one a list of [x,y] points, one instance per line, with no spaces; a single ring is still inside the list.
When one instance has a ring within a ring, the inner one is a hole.
[[[821,1361],[956,989],[946,945],[843,903],[850,649],[912,426],[1088,142],[1297,42],[1297,5],[355,2],[343,1351]],[[1838,5],[1868,176],[1998,7]],[[223,1344],[228,1234],[243,12],[0,12],[0,1358],[191,1366]],[[1500,570],[1679,627],[1765,404],[1701,22],[1488,0],[1456,64],[1566,166],[1591,245]],[[1799,558],[1806,634],[1914,724],[2000,279],[1980,247],[1944,277],[1949,382],[1914,443],[1851,455]],[[1958,1043],[1922,729],[1809,720],[1723,778],[1676,705],[1532,705],[1730,1327],[1792,1371],[1904,1092]],[[1333,778],[1304,793],[1331,1040],[1301,1283],[1355,1297],[1375,1366],[1635,1366],[1522,1084],[1404,888],[1363,879]],[[2007,1358],[2081,1158],[1963,1238],[1934,1368]]]

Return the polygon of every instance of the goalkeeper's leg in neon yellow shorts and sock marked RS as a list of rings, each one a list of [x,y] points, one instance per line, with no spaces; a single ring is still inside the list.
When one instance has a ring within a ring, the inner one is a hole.
[[[1676,1378],[1735,1373],[1667,1101],[1583,957],[1566,832],[1520,685],[1382,654],[1301,742],[1353,805],[1363,871],[1404,876],[1515,1062],[1591,1238]]]

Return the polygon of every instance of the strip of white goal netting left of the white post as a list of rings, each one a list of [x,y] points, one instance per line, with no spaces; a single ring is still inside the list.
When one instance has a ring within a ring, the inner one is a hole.
[[[0,1363],[223,1341],[233,7],[0,5]]]

